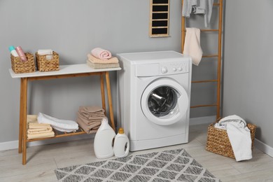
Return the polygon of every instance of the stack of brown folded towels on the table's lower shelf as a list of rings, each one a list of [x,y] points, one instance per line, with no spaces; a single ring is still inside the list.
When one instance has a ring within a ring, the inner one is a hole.
[[[104,117],[104,109],[99,106],[80,106],[77,123],[87,134],[92,134],[97,132]]]

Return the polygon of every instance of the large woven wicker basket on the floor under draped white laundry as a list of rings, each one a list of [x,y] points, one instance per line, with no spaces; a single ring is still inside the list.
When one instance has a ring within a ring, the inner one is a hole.
[[[256,126],[247,124],[247,127],[251,131],[251,141],[253,149]],[[228,138],[228,133],[226,130],[218,129],[214,127],[214,123],[212,123],[211,125],[209,125],[207,135],[207,151],[235,159],[235,155],[233,153],[230,139]]]

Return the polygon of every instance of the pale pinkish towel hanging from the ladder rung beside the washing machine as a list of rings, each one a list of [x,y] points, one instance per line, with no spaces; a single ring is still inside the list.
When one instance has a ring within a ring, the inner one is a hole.
[[[203,51],[200,45],[200,29],[186,28],[183,54],[192,57],[193,64],[198,66],[203,55]]]

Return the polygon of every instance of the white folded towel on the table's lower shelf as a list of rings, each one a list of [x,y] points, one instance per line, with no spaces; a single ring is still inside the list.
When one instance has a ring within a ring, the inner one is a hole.
[[[55,130],[61,132],[73,132],[78,130],[78,123],[73,120],[59,120],[52,116],[45,115],[44,113],[38,113],[38,123],[50,124]]]

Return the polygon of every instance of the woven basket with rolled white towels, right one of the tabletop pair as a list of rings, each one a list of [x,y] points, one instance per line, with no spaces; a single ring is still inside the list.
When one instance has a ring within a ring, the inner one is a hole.
[[[46,59],[47,55],[35,53],[38,71],[59,71],[59,55],[53,51],[52,59]]]

